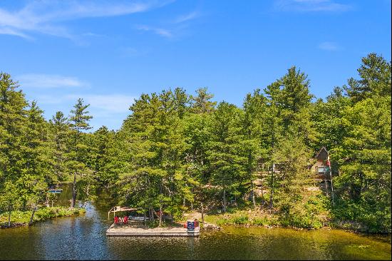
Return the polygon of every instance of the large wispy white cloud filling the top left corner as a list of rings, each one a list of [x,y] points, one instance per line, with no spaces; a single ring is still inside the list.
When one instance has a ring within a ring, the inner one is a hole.
[[[31,1],[22,9],[0,8],[0,34],[32,39],[32,33],[76,39],[62,21],[91,17],[122,16],[163,6],[158,1]]]

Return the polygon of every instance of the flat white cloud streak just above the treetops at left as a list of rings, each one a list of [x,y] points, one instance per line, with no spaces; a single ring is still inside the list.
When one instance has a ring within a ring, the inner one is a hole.
[[[23,88],[68,88],[88,86],[88,83],[80,81],[76,77],[56,74],[27,73],[17,78]]]

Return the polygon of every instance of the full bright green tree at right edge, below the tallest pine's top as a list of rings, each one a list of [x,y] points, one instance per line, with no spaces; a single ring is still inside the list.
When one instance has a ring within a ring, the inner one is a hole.
[[[335,183],[341,208],[368,232],[391,231],[391,96],[355,103],[343,121],[347,135],[336,148],[344,157]]]

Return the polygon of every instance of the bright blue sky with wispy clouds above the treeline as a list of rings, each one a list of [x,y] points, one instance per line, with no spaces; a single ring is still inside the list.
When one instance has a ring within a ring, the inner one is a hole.
[[[242,105],[297,66],[325,98],[369,52],[391,61],[391,1],[0,0],[0,71],[46,118],[91,104],[118,129],[141,93],[208,87]]]

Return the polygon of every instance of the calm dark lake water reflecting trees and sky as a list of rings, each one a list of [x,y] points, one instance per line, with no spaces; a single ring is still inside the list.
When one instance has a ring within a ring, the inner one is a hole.
[[[64,190],[58,203],[68,204]],[[67,198],[68,197],[68,198]],[[0,230],[0,260],[391,260],[391,237],[224,227],[193,237],[106,237],[108,198],[86,214]]]

